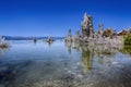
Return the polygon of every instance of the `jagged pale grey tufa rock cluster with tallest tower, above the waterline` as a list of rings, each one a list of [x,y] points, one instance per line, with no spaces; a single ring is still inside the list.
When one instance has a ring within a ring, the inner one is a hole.
[[[71,29],[66,37],[66,42],[82,42],[87,45],[110,45],[118,46],[123,45],[122,36],[119,36],[115,29],[108,28],[104,30],[104,25],[100,23],[98,25],[98,32],[94,30],[93,17],[91,15],[84,14],[84,20],[81,23],[82,34],[76,32],[75,36],[72,37]]]

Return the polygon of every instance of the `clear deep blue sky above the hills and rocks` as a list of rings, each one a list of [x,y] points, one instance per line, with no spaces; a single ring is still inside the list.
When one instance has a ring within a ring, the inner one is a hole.
[[[66,36],[81,30],[83,14],[117,30],[131,27],[130,0],[0,0],[0,35]]]

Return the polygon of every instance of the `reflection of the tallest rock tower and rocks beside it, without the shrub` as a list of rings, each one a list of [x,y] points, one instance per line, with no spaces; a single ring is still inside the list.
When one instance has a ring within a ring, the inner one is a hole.
[[[119,52],[123,47],[109,48],[107,46],[82,46],[82,64],[85,70],[92,70],[95,57],[98,58],[98,63],[104,63],[104,58],[109,62],[110,59]]]

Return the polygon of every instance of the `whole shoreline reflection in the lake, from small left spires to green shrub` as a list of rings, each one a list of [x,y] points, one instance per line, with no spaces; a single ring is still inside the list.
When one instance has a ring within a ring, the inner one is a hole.
[[[71,49],[75,49],[78,52],[80,49],[82,50],[82,66],[84,71],[91,71],[94,69],[94,61],[97,58],[98,64],[110,63],[114,55],[118,52],[123,54],[131,54],[131,46],[118,46],[117,48],[110,48],[106,45],[97,45],[97,46],[90,46],[90,45],[80,45],[80,44],[72,44],[67,42],[66,46],[71,53]],[[105,61],[104,61],[105,59]]]

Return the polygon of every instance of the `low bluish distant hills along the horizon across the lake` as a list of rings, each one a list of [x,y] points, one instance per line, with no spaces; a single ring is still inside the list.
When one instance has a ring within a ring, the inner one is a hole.
[[[3,36],[5,40],[33,40],[36,39],[47,39],[47,37],[15,37],[15,36]],[[53,39],[64,39],[64,37],[52,37]]]

